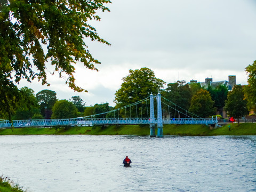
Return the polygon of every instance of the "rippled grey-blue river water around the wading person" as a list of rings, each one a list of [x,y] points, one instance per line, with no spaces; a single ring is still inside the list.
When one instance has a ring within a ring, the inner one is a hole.
[[[0,154],[28,191],[256,191],[255,136],[6,135]]]

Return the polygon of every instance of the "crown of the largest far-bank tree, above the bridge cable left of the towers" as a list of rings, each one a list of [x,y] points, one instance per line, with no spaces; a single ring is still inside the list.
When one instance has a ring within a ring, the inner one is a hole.
[[[157,94],[165,82],[155,77],[149,68],[129,70],[129,75],[123,78],[121,88],[115,93],[114,102],[117,107],[129,105],[149,97],[150,93]]]

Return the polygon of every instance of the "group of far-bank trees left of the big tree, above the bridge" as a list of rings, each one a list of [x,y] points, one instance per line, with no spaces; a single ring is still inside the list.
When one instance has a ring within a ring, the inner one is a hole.
[[[42,90],[34,94],[32,89],[22,87],[19,91],[25,95],[25,99],[14,111],[13,120],[75,118],[103,113],[113,108],[108,103],[97,103],[92,107],[85,107],[86,102],[79,96],[73,96],[69,100],[58,100],[55,91],[51,90]],[[7,118],[6,113],[0,114],[0,119]]]

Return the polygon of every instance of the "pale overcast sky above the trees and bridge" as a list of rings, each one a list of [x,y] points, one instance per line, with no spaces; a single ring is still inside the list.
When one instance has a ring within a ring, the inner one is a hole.
[[[35,93],[49,89],[58,99],[79,95],[86,106],[108,102],[129,69],[148,67],[166,83],[228,81],[246,84],[245,67],[256,60],[255,0],[113,0],[111,12],[100,13],[92,25],[111,46],[86,43],[101,61],[99,72],[76,67],[76,84],[88,93],[71,90],[65,80],[49,75],[50,87],[22,82]]]

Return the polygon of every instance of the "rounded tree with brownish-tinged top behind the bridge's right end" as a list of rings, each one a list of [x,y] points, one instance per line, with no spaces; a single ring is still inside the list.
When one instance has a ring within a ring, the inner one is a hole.
[[[209,117],[216,113],[216,108],[213,105],[214,101],[210,93],[201,89],[192,97],[189,112],[199,117]]]

